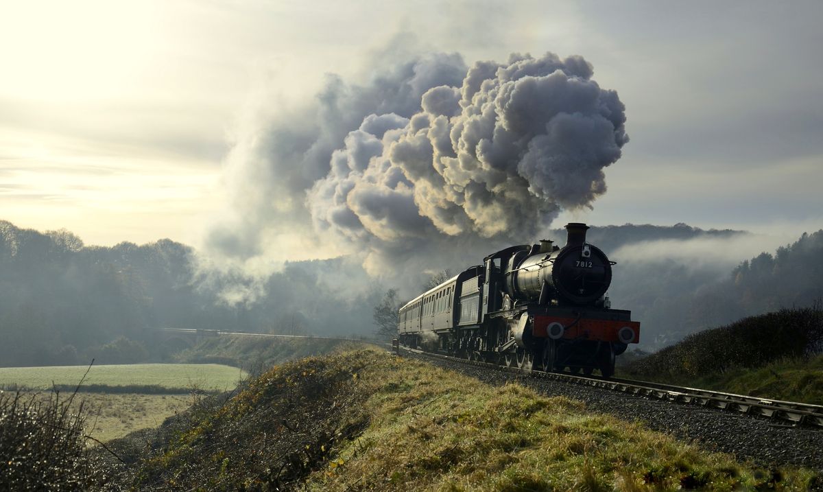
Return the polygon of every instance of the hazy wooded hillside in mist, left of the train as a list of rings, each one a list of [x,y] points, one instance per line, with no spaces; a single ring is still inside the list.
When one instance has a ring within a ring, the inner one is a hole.
[[[370,333],[381,292],[342,294],[322,281],[342,260],[286,263],[253,305],[230,305],[198,281],[193,248],[160,239],[85,246],[66,230],[0,221],[0,364],[137,362],[164,355],[156,327],[238,332]],[[363,328],[365,327],[365,329]]]

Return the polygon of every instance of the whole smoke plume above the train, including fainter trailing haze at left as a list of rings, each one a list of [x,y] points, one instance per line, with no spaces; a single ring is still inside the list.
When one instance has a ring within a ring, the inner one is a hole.
[[[249,258],[299,230],[372,274],[459,267],[591,207],[629,140],[624,105],[579,56],[467,68],[433,54],[375,73],[366,86],[332,77],[314,113],[241,138],[230,169],[248,187],[242,220],[213,230],[212,246]]]

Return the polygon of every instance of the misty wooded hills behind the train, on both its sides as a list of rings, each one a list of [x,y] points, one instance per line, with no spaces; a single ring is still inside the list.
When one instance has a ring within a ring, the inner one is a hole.
[[[546,238],[563,244],[565,230]],[[682,224],[588,231],[588,241],[617,262],[612,306],[632,311],[644,346],[653,349],[742,316],[819,302],[823,231],[746,259],[736,245],[751,240],[742,231]],[[481,261],[466,258],[451,272]],[[400,274],[420,276],[417,285],[431,277]],[[225,302],[230,277],[205,279],[195,250],[169,239],[86,246],[67,230],[0,221],[0,364],[160,360],[170,348],[153,342],[156,327],[371,336],[374,307],[397,286],[368,279],[345,258],[286,263],[253,304]],[[401,288],[391,304],[418,294]]]

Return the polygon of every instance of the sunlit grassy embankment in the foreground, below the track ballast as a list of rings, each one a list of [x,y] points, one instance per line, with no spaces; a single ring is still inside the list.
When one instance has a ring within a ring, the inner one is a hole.
[[[164,490],[805,490],[565,397],[378,350],[283,364],[202,405],[134,469]],[[126,454],[126,451],[123,451]]]

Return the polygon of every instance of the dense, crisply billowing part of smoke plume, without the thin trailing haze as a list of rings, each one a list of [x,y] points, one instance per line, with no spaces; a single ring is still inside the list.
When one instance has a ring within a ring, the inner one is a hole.
[[[455,237],[530,240],[560,209],[590,207],[628,141],[623,104],[591,77],[580,57],[514,55],[425,91],[409,118],[370,114],[308,193],[316,230],[385,264],[374,257],[412,245],[430,258]]]

